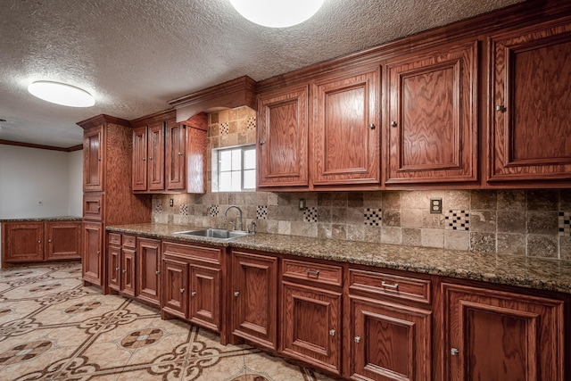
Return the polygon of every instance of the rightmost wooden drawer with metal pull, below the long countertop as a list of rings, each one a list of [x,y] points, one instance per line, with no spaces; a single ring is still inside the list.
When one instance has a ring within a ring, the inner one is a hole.
[[[392,296],[430,304],[430,280],[349,269],[349,291],[364,296]]]

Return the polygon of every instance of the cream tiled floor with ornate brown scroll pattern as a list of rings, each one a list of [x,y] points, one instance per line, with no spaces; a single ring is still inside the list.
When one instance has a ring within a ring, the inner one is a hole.
[[[79,263],[0,269],[0,380],[330,380],[82,286]]]

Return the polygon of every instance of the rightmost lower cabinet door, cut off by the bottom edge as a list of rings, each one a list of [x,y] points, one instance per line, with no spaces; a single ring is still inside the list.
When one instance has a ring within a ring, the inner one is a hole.
[[[443,284],[445,380],[564,379],[564,302]]]

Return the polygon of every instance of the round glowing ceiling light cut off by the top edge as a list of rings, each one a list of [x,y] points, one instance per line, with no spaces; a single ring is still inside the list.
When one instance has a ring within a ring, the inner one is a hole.
[[[230,0],[249,21],[269,28],[287,28],[310,19],[324,0]]]

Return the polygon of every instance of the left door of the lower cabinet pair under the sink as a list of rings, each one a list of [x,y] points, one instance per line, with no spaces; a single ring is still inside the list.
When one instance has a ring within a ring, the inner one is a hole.
[[[162,260],[161,308],[170,315],[186,319],[188,311],[188,263],[170,258]]]

